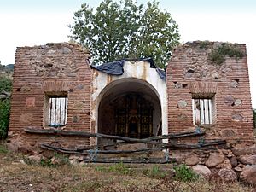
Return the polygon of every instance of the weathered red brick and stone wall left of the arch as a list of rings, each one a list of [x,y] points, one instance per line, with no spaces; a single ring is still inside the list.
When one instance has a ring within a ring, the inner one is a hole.
[[[90,131],[89,53],[75,44],[46,44],[16,49],[9,147],[25,153],[39,151],[38,143],[84,146],[89,139],[27,134],[24,128],[49,129],[44,123],[47,93],[66,92],[67,125],[64,130]],[[58,128],[60,129],[60,128]]]

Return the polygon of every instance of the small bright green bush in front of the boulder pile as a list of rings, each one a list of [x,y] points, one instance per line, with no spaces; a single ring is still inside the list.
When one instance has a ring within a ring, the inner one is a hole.
[[[174,178],[178,181],[191,182],[199,178],[199,176],[195,172],[193,172],[192,169],[190,169],[188,166],[183,164],[180,166],[174,166],[174,170],[175,170]]]

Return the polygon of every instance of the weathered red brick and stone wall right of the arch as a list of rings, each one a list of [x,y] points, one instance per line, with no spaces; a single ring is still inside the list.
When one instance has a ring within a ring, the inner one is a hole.
[[[195,130],[192,96],[213,95],[212,125],[201,125],[206,138],[229,143],[253,143],[253,116],[245,44],[233,44],[242,58],[225,56],[222,64],[209,59],[218,42],[193,42],[174,50],[167,76],[168,131]]]

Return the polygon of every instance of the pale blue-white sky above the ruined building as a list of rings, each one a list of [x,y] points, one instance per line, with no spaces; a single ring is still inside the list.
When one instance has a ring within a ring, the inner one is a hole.
[[[0,0],[0,61],[15,62],[15,49],[67,42],[73,13],[82,3],[96,8],[99,0]],[[146,0],[137,0],[147,3]],[[256,1],[159,0],[177,21],[181,42],[195,40],[247,44],[253,108],[256,108]]]

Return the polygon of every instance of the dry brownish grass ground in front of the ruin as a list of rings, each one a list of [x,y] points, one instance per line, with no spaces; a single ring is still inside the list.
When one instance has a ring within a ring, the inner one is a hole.
[[[35,163],[28,165],[24,163],[22,155],[5,152],[0,152],[0,191],[253,191],[253,188],[241,186],[240,183],[204,180],[182,183],[175,181],[171,174],[160,178],[158,173],[161,171],[150,175],[134,170],[124,172],[127,168],[125,166],[109,168],[91,164],[57,167],[40,166]]]

